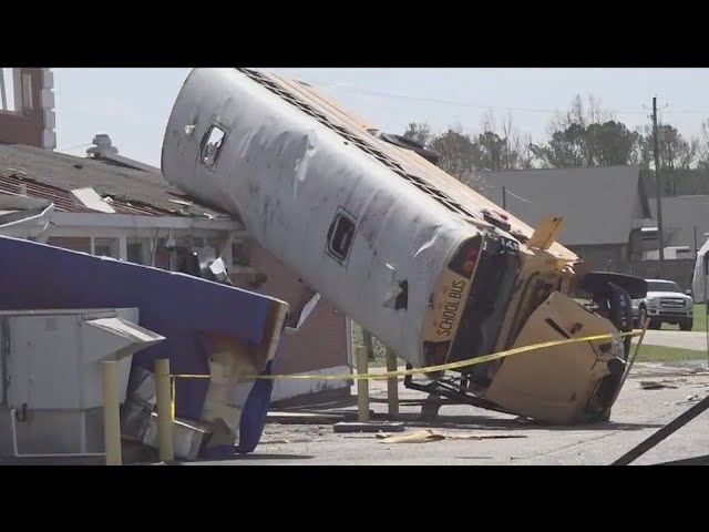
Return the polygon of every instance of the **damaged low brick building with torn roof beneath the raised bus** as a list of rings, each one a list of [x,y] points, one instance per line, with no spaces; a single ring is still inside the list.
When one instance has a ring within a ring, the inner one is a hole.
[[[94,143],[88,157],[0,143],[0,191],[54,203],[48,244],[169,270],[181,270],[181,249],[207,247],[224,259],[236,286],[284,299],[291,309],[311,294],[240,222],[185,196],[157,168],[123,157],[107,135]],[[350,321],[322,298],[282,341],[278,372],[350,371]],[[351,380],[279,380],[273,400],[326,389],[349,395],[350,387]]]

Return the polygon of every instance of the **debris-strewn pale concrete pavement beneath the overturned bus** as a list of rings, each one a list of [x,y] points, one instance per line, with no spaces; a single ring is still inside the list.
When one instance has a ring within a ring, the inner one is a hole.
[[[685,332],[686,335],[686,332]],[[670,386],[643,389],[641,382]],[[370,381],[371,410],[374,419],[387,413],[386,382]],[[403,388],[402,401],[421,400],[424,395]],[[353,388],[356,392],[356,387]],[[331,419],[310,413],[318,409],[301,407],[271,412],[256,452],[238,460],[196,462],[210,466],[246,464],[610,464],[640,441],[671,421],[709,393],[709,372],[689,368],[637,364],[616,402],[609,422],[592,427],[538,427],[513,416],[459,405],[440,410],[435,424],[420,421],[420,405],[402,405],[400,419],[405,431],[435,429],[446,436],[423,443],[387,443],[373,433],[336,433],[333,423],[341,416],[357,411],[356,398],[335,405],[327,412]],[[323,411],[320,409],[320,411]],[[709,454],[709,411],[688,423],[667,440],[639,458],[634,464]],[[501,439],[456,439],[491,436]]]

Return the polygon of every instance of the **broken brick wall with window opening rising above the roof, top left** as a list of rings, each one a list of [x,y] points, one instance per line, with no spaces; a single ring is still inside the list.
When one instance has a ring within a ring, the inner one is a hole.
[[[54,150],[53,89],[50,69],[1,69],[0,142]]]

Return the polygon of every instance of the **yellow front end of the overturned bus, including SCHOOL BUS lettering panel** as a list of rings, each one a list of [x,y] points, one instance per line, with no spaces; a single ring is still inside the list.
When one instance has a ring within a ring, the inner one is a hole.
[[[461,245],[441,273],[430,310],[424,338],[429,365],[618,335],[608,319],[569,297],[577,280],[574,263],[548,252],[562,227],[562,219],[549,217],[525,245],[499,245],[494,255],[494,242],[505,241],[494,233]],[[505,254],[515,259],[503,258]],[[577,423],[608,418],[624,358],[623,342],[608,338],[533,349],[456,371],[480,406],[489,401],[492,408],[538,421]]]

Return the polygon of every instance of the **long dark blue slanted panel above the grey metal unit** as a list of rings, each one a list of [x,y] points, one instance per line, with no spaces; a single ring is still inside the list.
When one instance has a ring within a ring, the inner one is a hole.
[[[174,374],[209,374],[206,336],[260,344],[277,304],[186,274],[0,236],[0,309],[137,307],[140,325],[166,338],[133,357],[150,370],[155,359],[169,358]],[[178,379],[176,416],[198,420],[207,387],[206,379]],[[242,452],[258,443],[271,387],[270,380],[257,380],[246,400]]]

